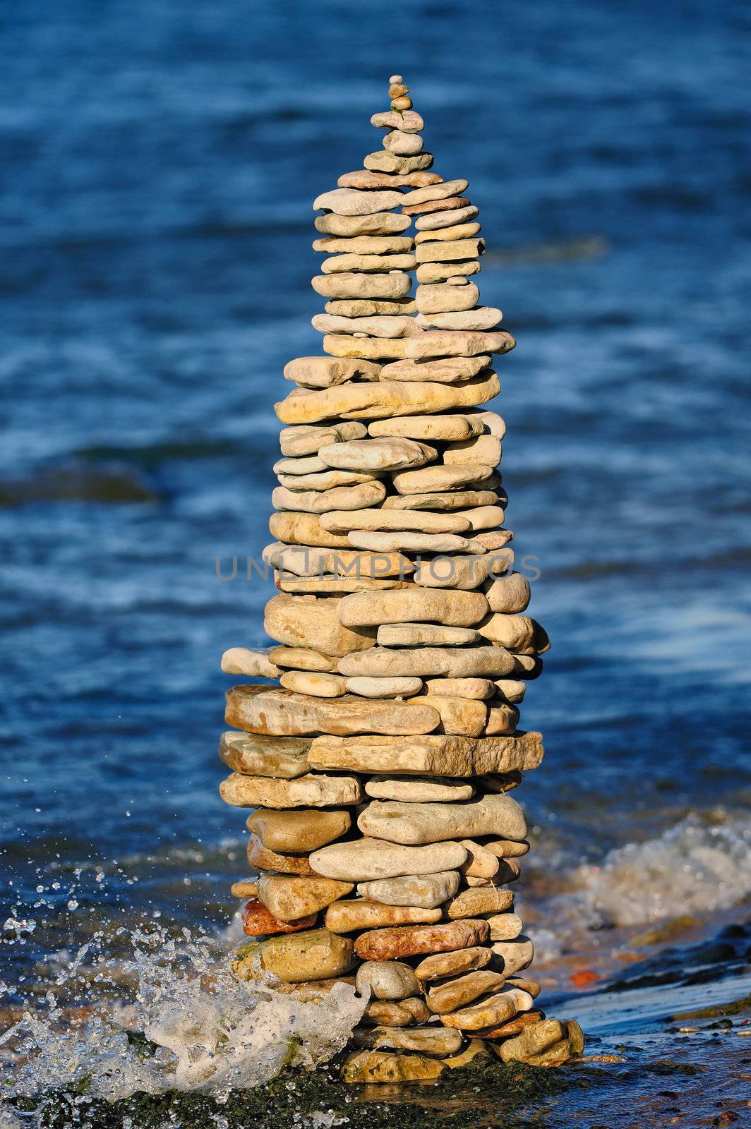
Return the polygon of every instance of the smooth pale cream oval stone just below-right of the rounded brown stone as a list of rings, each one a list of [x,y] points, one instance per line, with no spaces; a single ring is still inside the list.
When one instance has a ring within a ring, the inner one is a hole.
[[[324,877],[361,883],[454,870],[465,858],[466,851],[459,843],[401,847],[383,839],[352,839],[314,850],[309,861],[316,874]]]

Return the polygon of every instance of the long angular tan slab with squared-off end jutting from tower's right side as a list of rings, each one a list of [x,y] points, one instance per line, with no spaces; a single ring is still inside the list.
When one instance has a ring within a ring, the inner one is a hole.
[[[411,741],[394,741],[381,736],[320,736],[311,745],[308,761],[315,768],[339,772],[471,777],[483,776],[486,772],[535,769],[542,761],[542,735],[534,732],[498,737],[429,734]],[[451,870],[453,866],[439,869]]]

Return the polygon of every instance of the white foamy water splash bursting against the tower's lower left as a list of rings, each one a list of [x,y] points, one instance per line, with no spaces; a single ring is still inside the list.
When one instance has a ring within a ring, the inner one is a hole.
[[[16,1068],[3,1096],[78,1089],[117,1101],[177,1089],[222,1099],[269,1082],[285,1066],[324,1062],[344,1047],[367,1004],[344,983],[303,1003],[268,974],[237,981],[229,946],[187,929],[180,942],[159,928],[134,934],[122,966],[103,960],[98,944],[82,946],[55,986],[78,982],[82,969],[98,968],[101,977],[104,964],[132,984],[130,1000],[91,1014],[77,1030],[68,1006],[49,990],[46,1008],[25,1010],[0,1036]]]

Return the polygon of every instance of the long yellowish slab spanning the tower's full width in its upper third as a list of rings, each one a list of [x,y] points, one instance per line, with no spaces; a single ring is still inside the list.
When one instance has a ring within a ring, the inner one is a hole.
[[[391,275],[386,275],[391,278]],[[426,333],[425,336],[436,336]],[[352,339],[356,351],[364,347],[369,339]],[[329,348],[325,339],[324,348]],[[411,349],[416,341],[422,338],[405,338],[399,342],[402,349]],[[385,349],[385,343],[378,342],[377,350]],[[444,348],[437,344],[437,348]],[[456,343],[456,349],[461,345]],[[429,350],[428,350],[429,351]],[[377,383],[352,383],[342,384],[335,388],[322,388],[321,391],[305,391],[302,388],[291,392],[286,400],[274,405],[277,415],[282,423],[314,423],[317,420],[331,419],[339,415],[344,419],[383,419],[385,417],[403,415],[410,412],[443,412],[454,408],[469,408],[486,403],[498,395],[500,383],[498,376],[488,370],[486,374],[468,380],[464,384],[433,384],[422,382],[420,384],[409,384],[399,380],[378,380]],[[439,428],[440,425],[437,425]],[[375,432],[370,432],[375,435]],[[381,431],[381,434],[385,434]],[[420,436],[410,434],[409,438],[433,438],[433,436]],[[466,438],[463,435],[452,434],[449,438]],[[438,438],[438,435],[435,435]],[[342,509],[343,507],[335,507]]]

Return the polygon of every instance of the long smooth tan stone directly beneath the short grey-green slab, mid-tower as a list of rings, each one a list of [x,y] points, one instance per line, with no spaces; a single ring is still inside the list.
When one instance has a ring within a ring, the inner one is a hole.
[[[378,536],[378,534],[370,534]],[[411,589],[401,589],[410,592]],[[434,589],[431,589],[434,590]],[[359,593],[358,593],[359,595]],[[367,595],[370,595],[368,593]],[[394,595],[394,593],[379,593]],[[504,647],[374,647],[359,655],[344,655],[339,660],[341,674],[366,674],[372,677],[495,679],[516,671],[514,656]]]

